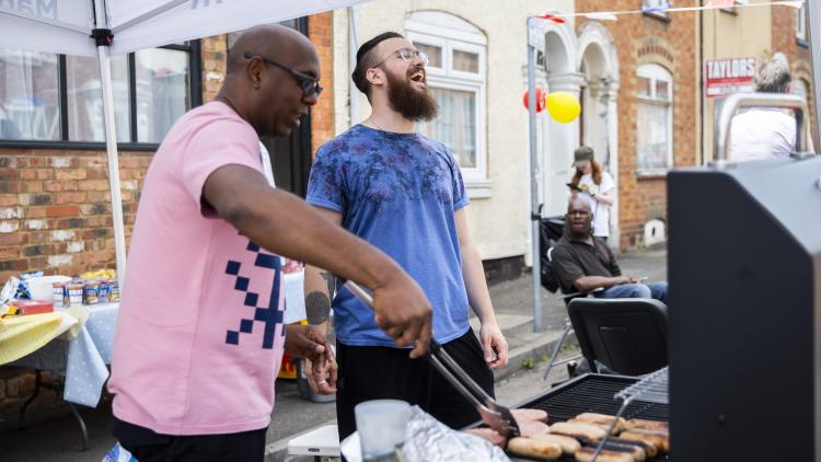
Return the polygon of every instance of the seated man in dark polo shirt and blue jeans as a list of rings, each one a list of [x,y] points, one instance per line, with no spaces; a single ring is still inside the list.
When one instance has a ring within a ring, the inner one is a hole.
[[[565,216],[565,233],[553,250],[553,269],[565,292],[590,292],[600,298],[654,298],[667,303],[667,282],[640,284],[622,276],[613,252],[603,240],[592,234],[593,215],[590,204],[570,199]]]

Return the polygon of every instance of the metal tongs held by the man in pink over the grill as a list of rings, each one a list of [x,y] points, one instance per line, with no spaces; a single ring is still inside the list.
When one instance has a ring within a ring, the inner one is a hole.
[[[373,298],[352,280],[345,282],[359,300],[373,309]],[[425,358],[455,388],[462,396],[476,406],[476,412],[482,420],[499,435],[513,438],[521,435],[519,424],[516,423],[510,409],[497,403],[490,397],[470,376],[462,369],[448,351],[435,338],[430,338],[430,346]]]

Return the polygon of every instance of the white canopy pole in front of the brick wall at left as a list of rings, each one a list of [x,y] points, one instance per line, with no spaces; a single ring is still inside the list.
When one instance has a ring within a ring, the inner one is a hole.
[[[112,193],[112,218],[114,224],[114,252],[117,258],[117,279],[119,290],[126,279],[126,233],[123,222],[123,196],[119,190],[119,161],[117,157],[117,129],[114,122],[114,91],[112,89],[112,66],[109,46],[113,35],[106,28],[105,5],[103,0],[94,1],[96,26],[92,37],[97,45],[100,63],[100,82],[103,91],[103,120],[105,123],[105,150],[108,155],[108,187]]]

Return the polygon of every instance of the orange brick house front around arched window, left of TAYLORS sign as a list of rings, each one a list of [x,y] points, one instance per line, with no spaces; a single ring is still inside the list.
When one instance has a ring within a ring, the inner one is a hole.
[[[578,12],[635,10],[633,0],[586,0]],[[681,7],[691,5],[684,2]],[[692,4],[695,4],[692,2]],[[679,4],[677,3],[677,7]],[[579,21],[579,26],[583,21]],[[644,63],[658,63],[673,76],[673,163],[694,165],[698,139],[694,13],[670,13],[668,20],[641,14],[603,21],[615,41],[621,71],[618,90],[618,200],[622,249],[641,244],[644,224],[667,221],[667,188],[663,176],[638,176],[636,127],[636,71]]]

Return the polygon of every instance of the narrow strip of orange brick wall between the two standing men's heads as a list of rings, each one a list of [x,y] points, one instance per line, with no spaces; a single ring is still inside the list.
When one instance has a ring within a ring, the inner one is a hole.
[[[312,151],[334,137],[334,15],[328,11],[308,19],[308,35],[320,55],[321,85],[325,88],[311,108]]]

